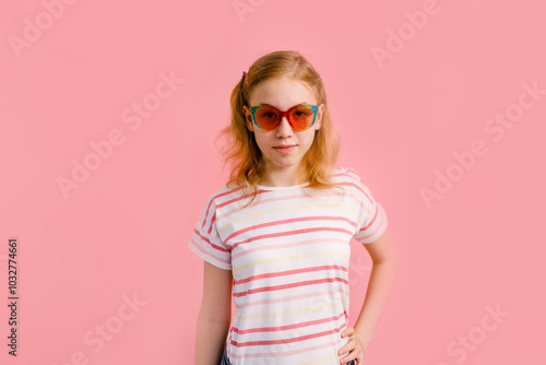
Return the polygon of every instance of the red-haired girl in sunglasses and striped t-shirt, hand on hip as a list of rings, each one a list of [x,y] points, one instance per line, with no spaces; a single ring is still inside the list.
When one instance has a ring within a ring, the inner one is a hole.
[[[296,51],[271,52],[242,73],[230,104],[221,134],[230,139],[230,180],[210,197],[188,245],[205,261],[195,364],[361,364],[396,254],[382,207],[355,170],[335,167],[320,75]],[[354,327],[352,238],[373,261]]]

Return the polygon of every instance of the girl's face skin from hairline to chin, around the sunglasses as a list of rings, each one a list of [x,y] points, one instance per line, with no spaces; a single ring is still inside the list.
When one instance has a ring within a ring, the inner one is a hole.
[[[307,84],[282,76],[258,84],[250,94],[249,104],[250,106],[269,104],[280,110],[288,110],[298,104],[317,105],[317,98]],[[281,174],[284,177],[288,175],[295,179],[299,172],[299,163],[311,146],[314,132],[320,129],[324,105],[319,106],[314,125],[302,131],[293,130],[286,117],[283,117],[275,130],[263,131],[254,126],[250,108],[244,106],[242,110],[247,128],[254,133],[256,142],[262,152],[268,175]]]

